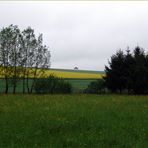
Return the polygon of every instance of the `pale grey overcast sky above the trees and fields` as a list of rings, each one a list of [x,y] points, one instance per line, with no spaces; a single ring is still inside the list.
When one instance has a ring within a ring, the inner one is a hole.
[[[0,28],[43,33],[51,68],[104,70],[119,48],[148,51],[148,2],[0,1]]]

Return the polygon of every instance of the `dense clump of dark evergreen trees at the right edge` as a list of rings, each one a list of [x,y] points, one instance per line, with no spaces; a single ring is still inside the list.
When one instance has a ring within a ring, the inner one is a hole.
[[[105,66],[105,85],[114,93],[148,93],[148,53],[135,47],[133,52],[122,50],[111,56],[109,66]]]

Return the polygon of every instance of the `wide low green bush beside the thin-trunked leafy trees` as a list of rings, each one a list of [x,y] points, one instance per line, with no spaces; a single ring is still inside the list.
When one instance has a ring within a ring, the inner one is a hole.
[[[71,93],[71,84],[62,78],[50,75],[48,78],[37,79],[35,82],[35,92],[38,94]]]

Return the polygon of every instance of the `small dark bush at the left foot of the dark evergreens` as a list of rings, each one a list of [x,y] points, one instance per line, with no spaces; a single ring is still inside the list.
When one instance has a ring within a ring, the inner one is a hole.
[[[92,81],[84,90],[84,93],[101,94],[105,92],[105,89],[105,81],[103,79],[98,79],[97,81]]]

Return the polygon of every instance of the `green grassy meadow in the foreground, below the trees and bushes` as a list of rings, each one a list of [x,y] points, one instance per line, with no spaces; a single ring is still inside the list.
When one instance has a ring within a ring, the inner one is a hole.
[[[148,147],[148,97],[1,95],[0,147]]]

